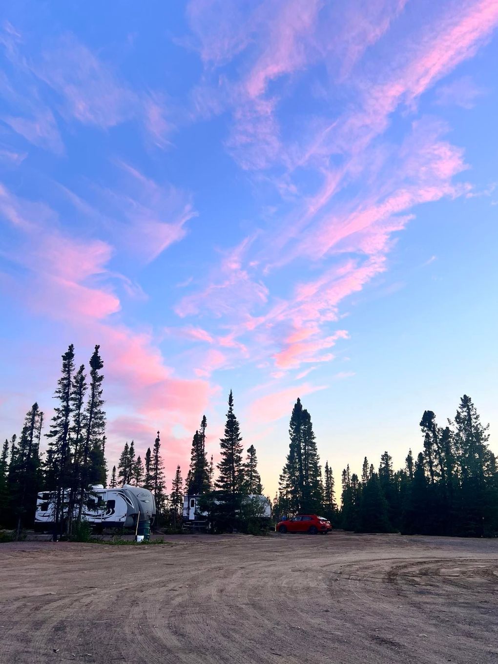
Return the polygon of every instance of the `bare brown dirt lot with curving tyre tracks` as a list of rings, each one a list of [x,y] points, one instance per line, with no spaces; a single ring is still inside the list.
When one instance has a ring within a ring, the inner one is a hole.
[[[0,662],[498,662],[498,540],[0,544]]]

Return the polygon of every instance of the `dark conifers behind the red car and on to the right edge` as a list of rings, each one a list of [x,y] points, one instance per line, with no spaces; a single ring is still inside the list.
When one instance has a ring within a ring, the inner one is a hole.
[[[361,476],[349,465],[342,473],[341,508],[329,463],[322,475],[311,418],[297,399],[290,419],[290,445],[274,500],[283,515],[322,513],[349,531],[491,537],[498,534],[498,467],[483,426],[467,395],[454,420],[438,426],[432,410],[420,420],[422,450],[409,450],[405,466],[393,470],[384,452],[376,469],[367,457]]]

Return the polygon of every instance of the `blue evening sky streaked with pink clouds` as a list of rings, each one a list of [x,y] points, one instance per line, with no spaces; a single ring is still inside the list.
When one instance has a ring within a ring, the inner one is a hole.
[[[104,360],[167,485],[226,401],[274,495],[497,418],[496,0],[19,0],[0,14],[0,436]]]

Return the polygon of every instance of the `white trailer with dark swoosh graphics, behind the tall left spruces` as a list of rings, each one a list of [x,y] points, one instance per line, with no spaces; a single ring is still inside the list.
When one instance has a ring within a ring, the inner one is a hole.
[[[64,502],[69,499],[69,491],[64,491]],[[42,491],[38,494],[35,527],[52,527],[56,510],[56,493]],[[74,507],[74,516],[78,507]],[[115,489],[106,489],[102,484],[94,485],[88,493],[82,518],[92,525],[106,527],[133,527],[140,521],[153,523],[155,517],[155,501],[149,489],[132,487],[125,484]]]

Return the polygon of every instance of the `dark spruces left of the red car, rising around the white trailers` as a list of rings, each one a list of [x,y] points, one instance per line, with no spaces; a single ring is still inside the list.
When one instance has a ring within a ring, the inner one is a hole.
[[[71,344],[62,355],[60,378],[54,391],[56,404],[48,432],[42,434],[44,414],[35,402],[25,416],[19,438],[14,434],[1,448],[0,524],[15,528],[18,537],[23,527],[33,525],[39,492],[53,493],[55,531],[70,534],[84,518],[92,486],[105,486],[107,482],[104,363],[100,347],[96,345],[90,357],[88,373],[85,365],[76,369],[74,357]],[[134,440],[129,444],[125,442],[118,467],[112,468],[109,486],[132,484],[149,489],[155,497],[156,523],[171,523],[173,527],[181,521],[184,491],[189,495],[212,491],[262,493],[254,446],[246,450],[246,459],[243,459],[244,448],[233,412],[231,390],[216,479],[213,457],[210,461],[207,459],[206,430],[207,418],[203,416],[193,436],[187,478],[184,482],[178,465],[169,494],[159,431],[152,449],[147,448],[143,457],[137,456]],[[46,439],[45,452],[41,450],[42,438]]]

